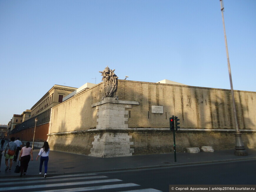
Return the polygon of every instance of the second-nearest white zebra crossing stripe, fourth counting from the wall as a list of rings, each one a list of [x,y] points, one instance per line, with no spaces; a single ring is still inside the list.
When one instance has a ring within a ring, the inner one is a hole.
[[[102,185],[102,186],[79,187],[79,188],[69,188],[69,189],[57,189],[57,190],[48,190],[48,191],[40,191],[40,192],[94,191],[94,190],[102,190],[102,189],[114,189],[114,188],[135,187],[135,186],[140,186],[140,185],[135,184],[135,183],[123,183],[123,184],[115,184],[115,185]]]

